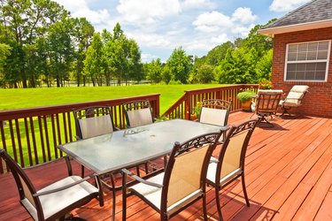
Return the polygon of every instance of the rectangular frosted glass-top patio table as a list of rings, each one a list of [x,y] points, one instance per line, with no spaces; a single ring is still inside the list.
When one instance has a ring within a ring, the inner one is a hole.
[[[57,148],[98,175],[102,175],[166,156],[173,149],[175,141],[181,143],[203,133],[218,133],[227,128],[172,119],[73,141],[58,145]],[[113,215],[114,210],[115,205]]]

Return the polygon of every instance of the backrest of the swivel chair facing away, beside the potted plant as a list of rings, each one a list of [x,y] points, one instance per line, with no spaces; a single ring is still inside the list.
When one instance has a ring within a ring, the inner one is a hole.
[[[275,114],[281,98],[282,90],[259,90],[255,106],[256,112]]]

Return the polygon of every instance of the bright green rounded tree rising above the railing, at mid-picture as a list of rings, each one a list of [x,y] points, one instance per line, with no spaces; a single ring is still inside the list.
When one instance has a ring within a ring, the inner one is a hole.
[[[181,47],[173,51],[166,64],[169,67],[173,80],[180,80],[182,84],[187,83],[191,63],[186,52]]]

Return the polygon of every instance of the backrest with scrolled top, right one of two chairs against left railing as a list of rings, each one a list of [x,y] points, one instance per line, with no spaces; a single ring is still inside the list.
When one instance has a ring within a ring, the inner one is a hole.
[[[153,123],[151,105],[148,100],[122,103],[127,127],[144,126]]]

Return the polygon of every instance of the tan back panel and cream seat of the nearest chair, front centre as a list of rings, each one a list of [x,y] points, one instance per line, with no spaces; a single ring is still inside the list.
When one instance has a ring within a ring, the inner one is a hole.
[[[167,192],[168,216],[179,210],[183,205],[187,205],[189,202],[195,200],[197,196],[203,194],[200,180],[202,165],[208,148],[209,145],[205,145],[201,149],[175,157]],[[192,164],[193,159],[195,164]],[[165,173],[163,172],[147,180],[163,184],[164,175]],[[139,183],[130,187],[129,190],[135,190],[137,193],[143,195],[144,198],[160,210],[162,188]]]

